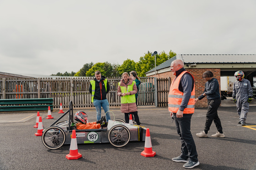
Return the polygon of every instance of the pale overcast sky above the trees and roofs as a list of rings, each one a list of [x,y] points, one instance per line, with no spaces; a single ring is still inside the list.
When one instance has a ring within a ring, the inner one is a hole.
[[[0,71],[51,75],[147,51],[256,54],[256,0],[0,0]]]

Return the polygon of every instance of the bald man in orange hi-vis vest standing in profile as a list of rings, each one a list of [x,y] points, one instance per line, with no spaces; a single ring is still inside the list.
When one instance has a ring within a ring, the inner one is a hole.
[[[171,71],[176,77],[171,83],[168,109],[181,139],[181,155],[172,160],[186,162],[184,168],[193,168],[199,165],[196,145],[190,131],[191,117],[195,108],[194,77],[185,70],[182,60],[172,61]]]

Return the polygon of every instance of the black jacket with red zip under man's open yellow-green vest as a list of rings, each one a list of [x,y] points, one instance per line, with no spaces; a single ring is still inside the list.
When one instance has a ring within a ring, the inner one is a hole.
[[[95,81],[95,94],[94,94],[94,98],[96,100],[105,100],[107,99],[107,93],[109,92],[109,84],[107,82],[107,91],[105,89],[105,85],[104,85],[104,80],[106,79],[105,76],[101,75],[101,80],[100,82],[94,78]],[[89,91],[91,93],[91,83],[90,83],[90,87],[89,87]]]

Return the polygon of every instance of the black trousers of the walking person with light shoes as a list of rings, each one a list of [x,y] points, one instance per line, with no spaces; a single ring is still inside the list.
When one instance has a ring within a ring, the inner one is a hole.
[[[206,113],[206,122],[204,126],[204,132],[208,134],[210,126],[214,122],[219,133],[223,133],[221,122],[218,116],[218,108],[221,103],[221,99],[208,100],[208,110]]]

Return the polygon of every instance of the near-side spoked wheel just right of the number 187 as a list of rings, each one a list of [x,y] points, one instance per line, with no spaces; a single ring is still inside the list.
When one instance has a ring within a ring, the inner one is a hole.
[[[124,125],[113,126],[108,133],[108,140],[115,147],[123,147],[128,144],[131,133]]]

